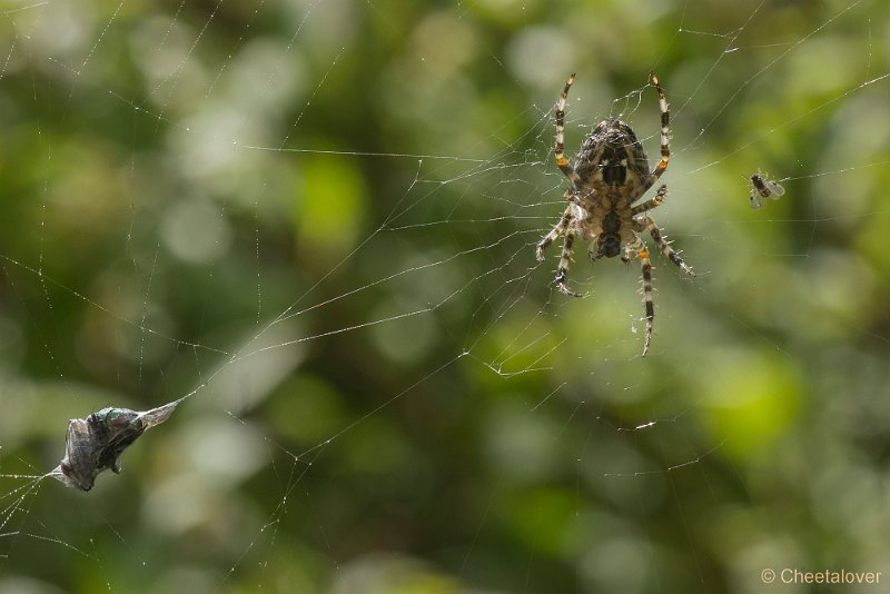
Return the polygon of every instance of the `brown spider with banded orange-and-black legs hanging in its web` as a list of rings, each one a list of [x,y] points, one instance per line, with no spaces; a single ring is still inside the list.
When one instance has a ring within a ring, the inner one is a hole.
[[[592,261],[613,258],[621,254],[622,261],[629,264],[631,255],[636,254],[643,268],[643,300],[646,304],[643,356],[649,352],[652,340],[655,306],[652,300],[652,261],[649,249],[637,234],[649,231],[662,254],[685,274],[695,276],[680,254],[664,240],[655,221],[645,215],[647,210],[662,205],[668,195],[668,186],[662,185],[652,199],[633,206],[661,178],[668,169],[671,157],[668,146],[671,118],[668,100],[654,72],[650,73],[649,79],[659,93],[661,109],[661,160],[652,171],[649,170],[646,154],[636,135],[630,126],[617,119],[597,123],[584,138],[581,150],[575,156],[574,166],[568,164],[564,155],[565,103],[568,100],[568,89],[575,81],[575,75],[568,77],[556,103],[555,147],[556,165],[571,184],[565,192],[568,207],[560,221],[535,247],[537,260],[542,261],[544,250],[555,239],[564,237],[555,283],[557,289],[572,297],[581,297],[566,286],[575,235],[590,241],[587,256]]]

